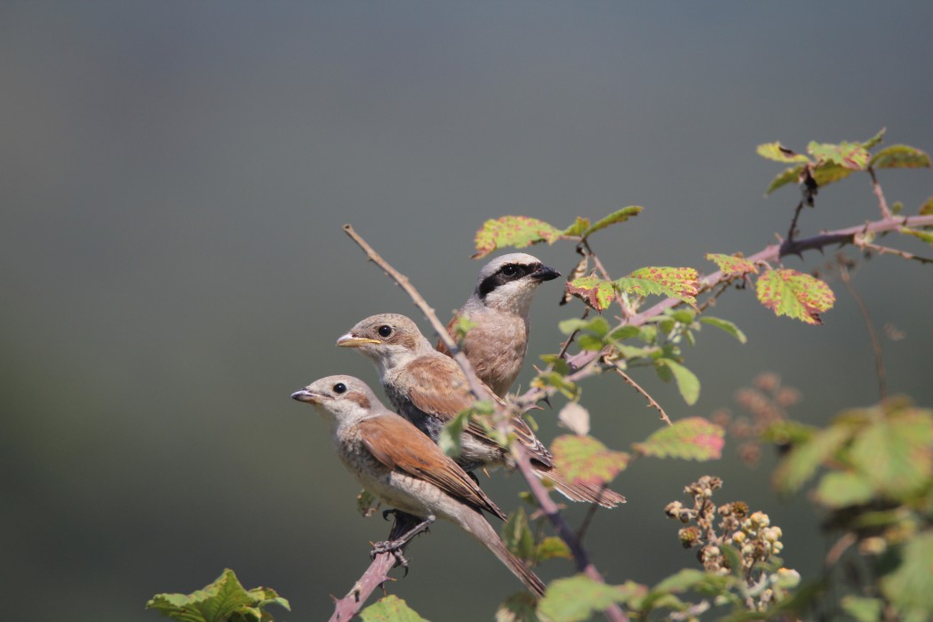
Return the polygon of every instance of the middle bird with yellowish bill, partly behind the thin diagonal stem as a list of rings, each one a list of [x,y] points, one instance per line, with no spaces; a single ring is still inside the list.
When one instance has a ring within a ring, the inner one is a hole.
[[[435,442],[444,425],[475,401],[460,366],[435,350],[405,315],[372,315],[337,339],[337,345],[355,348],[367,356],[376,366],[385,394],[398,414]],[[492,389],[483,387],[486,392],[481,396],[483,399],[505,404]],[[568,480],[557,469],[550,451],[521,417],[512,417],[511,425],[517,441],[528,452],[536,477],[549,479],[565,497],[604,507],[625,502],[625,497],[606,487]],[[479,422],[466,422],[461,441],[462,450],[454,460],[466,471],[516,466],[511,452],[500,447]]]

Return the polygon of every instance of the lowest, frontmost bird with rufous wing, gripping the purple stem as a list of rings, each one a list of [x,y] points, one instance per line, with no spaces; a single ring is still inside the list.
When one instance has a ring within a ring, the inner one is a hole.
[[[337,455],[363,488],[421,519],[397,540],[378,543],[373,554],[397,551],[437,518],[444,518],[489,548],[536,596],[544,595],[541,579],[508,552],[483,516],[487,512],[505,519],[502,510],[411,422],[385,408],[363,380],[328,376],[291,396],[322,415]]]

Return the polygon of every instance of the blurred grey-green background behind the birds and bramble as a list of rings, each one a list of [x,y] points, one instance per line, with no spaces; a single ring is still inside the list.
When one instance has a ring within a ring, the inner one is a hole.
[[[333,373],[374,382],[334,340],[371,313],[415,313],[343,223],[441,316],[480,268],[475,230],[503,214],[564,226],[642,204],[592,240],[611,270],[713,270],[704,253],[759,250],[798,200],[792,188],[762,197],[781,166],[755,145],[886,126],[885,144],[933,149],[931,23],[922,2],[3,2],[7,616],[155,620],[152,594],[231,567],[291,600],[277,617],[326,618],[328,594],[352,586],[388,524],[356,514],[324,424],[288,395]],[[929,171],[881,181],[908,211],[933,194]],[[856,177],[824,189],[801,228],[875,217]],[[532,252],[560,270],[575,261],[568,243]],[[806,259],[785,265],[824,261]],[[927,406],[930,283],[928,268],[890,257],[855,275],[876,325],[906,333],[884,341],[891,391]],[[750,341],[703,332],[688,352],[703,382],[693,408],[636,378],[673,417],[730,406],[764,370],[801,390],[792,414],[809,422],[873,403],[862,319],[830,284],[839,301],[822,327],[775,319],[750,291],[722,297],[716,314]],[[577,312],[557,306],[559,288],[536,301],[533,357]],[[584,404],[614,449],[659,425],[619,380],[588,382]],[[557,434],[550,412],[537,419],[543,438]],[[734,451],[619,477],[629,504],[600,512],[588,536],[608,580],[694,562],[661,508],[704,473],[725,477],[722,501],[784,528],[789,567],[819,570],[831,542],[809,506],[774,497],[773,458],[749,470]],[[501,474],[486,485],[506,509],[521,488]],[[519,588],[449,525],[410,559],[391,590],[430,619],[489,619]]]

